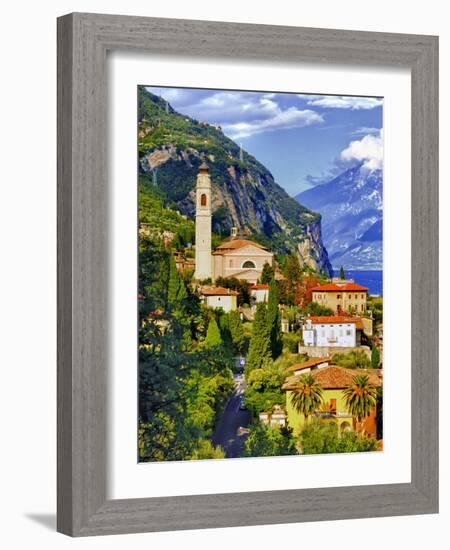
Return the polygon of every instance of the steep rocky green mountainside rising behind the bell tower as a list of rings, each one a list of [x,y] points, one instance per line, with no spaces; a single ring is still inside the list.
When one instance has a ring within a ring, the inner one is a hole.
[[[236,226],[274,252],[296,250],[301,262],[330,273],[321,217],[290,197],[269,170],[241,151],[220,128],[176,112],[139,88],[140,190],[157,189],[165,206],[195,214],[195,181],[202,160],[213,187],[213,231],[224,237]]]

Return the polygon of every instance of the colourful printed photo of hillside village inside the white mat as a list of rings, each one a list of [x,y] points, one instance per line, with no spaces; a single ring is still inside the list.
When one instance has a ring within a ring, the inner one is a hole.
[[[140,462],[383,448],[383,99],[138,87]]]

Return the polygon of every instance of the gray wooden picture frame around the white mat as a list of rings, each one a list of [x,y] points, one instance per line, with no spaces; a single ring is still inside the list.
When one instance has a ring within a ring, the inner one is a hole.
[[[107,499],[110,50],[411,70],[411,483]],[[85,536],[437,512],[437,328],[437,37],[83,13],[58,19],[58,531]]]

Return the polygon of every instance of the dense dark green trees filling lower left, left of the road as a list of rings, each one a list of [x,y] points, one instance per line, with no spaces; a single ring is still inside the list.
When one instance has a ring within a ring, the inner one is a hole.
[[[205,440],[232,388],[232,358],[170,250],[147,235],[139,247],[139,458],[221,457]]]

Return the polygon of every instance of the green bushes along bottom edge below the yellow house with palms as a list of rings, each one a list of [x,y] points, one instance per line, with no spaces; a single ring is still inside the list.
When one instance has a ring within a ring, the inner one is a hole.
[[[356,453],[376,450],[376,440],[339,432],[336,422],[313,419],[299,436],[302,454]]]

